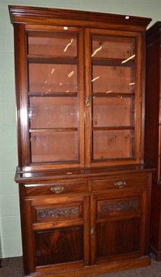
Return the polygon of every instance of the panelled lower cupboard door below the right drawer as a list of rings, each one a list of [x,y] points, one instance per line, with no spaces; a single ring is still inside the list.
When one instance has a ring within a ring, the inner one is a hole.
[[[146,190],[92,196],[92,265],[144,255]]]

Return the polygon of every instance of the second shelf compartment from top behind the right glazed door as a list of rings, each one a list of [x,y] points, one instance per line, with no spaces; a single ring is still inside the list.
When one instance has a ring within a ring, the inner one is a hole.
[[[94,93],[135,93],[135,66],[92,66]]]

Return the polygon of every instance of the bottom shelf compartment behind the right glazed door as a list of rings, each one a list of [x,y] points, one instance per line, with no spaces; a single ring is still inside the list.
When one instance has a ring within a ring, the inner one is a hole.
[[[134,131],[94,131],[93,145],[93,159],[133,158]]]

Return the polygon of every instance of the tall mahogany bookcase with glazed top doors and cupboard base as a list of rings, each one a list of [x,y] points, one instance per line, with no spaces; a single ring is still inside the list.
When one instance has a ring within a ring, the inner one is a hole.
[[[10,6],[24,276],[151,263],[144,164],[151,19]]]

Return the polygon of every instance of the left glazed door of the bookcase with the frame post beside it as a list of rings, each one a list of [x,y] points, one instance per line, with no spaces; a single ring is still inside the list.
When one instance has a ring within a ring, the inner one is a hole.
[[[83,28],[31,24],[19,28],[16,32],[15,27],[23,78],[17,86],[18,116],[23,122],[18,123],[22,125],[20,166],[26,170],[29,166],[84,166],[84,84],[80,62]]]

